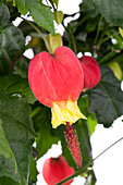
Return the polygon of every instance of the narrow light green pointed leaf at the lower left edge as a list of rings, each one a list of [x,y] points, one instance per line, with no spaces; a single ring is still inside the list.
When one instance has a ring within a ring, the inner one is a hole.
[[[0,155],[3,156],[7,159],[13,159],[14,165],[15,165],[15,171],[16,171],[16,161],[15,157],[9,146],[9,143],[5,138],[4,131],[2,128],[2,121],[0,119]]]

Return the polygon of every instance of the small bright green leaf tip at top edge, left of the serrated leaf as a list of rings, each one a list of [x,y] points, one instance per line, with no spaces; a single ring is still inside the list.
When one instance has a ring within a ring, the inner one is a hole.
[[[15,0],[15,1],[17,3],[19,12],[25,15],[28,12],[26,0]]]

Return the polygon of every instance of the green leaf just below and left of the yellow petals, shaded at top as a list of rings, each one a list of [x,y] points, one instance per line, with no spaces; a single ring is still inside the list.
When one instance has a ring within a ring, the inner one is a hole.
[[[44,156],[52,144],[59,141],[59,137],[52,135],[51,112],[50,109],[40,104],[32,113],[35,131],[38,135],[36,138],[36,149],[38,158]]]

